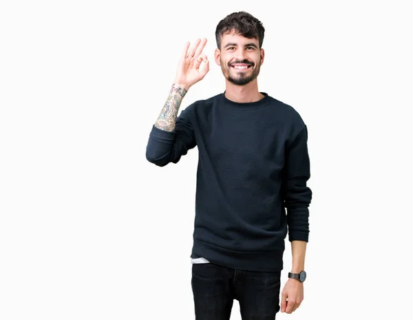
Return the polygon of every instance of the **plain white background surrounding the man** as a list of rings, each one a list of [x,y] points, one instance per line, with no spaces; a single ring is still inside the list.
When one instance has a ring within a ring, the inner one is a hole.
[[[1,1],[0,319],[194,319],[198,149],[145,151],[186,41],[211,71],[181,109],[224,91],[214,32],[240,10],[260,91],[308,125],[308,279],[277,319],[411,319],[408,2]]]

